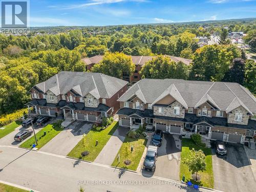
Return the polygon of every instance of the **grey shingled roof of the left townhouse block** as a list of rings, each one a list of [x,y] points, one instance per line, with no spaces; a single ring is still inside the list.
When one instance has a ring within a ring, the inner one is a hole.
[[[61,71],[35,87],[46,93],[65,95],[73,90],[81,96],[91,93],[95,98],[111,98],[127,81],[101,73]]]

